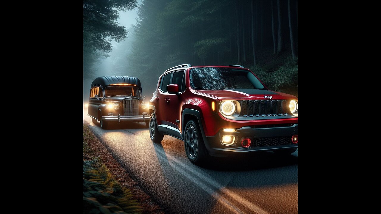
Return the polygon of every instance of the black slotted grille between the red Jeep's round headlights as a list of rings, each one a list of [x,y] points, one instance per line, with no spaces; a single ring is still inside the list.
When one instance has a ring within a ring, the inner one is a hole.
[[[241,102],[243,117],[287,115],[286,100],[249,100]]]

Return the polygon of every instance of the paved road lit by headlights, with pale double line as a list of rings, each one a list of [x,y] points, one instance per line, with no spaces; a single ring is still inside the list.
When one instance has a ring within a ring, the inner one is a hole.
[[[211,158],[203,168],[189,162],[184,142],[165,135],[150,140],[144,123],[94,125],[90,129],[166,213],[298,213],[298,151]]]

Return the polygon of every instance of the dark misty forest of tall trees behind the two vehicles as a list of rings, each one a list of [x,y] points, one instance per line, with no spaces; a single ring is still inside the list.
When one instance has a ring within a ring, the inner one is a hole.
[[[136,24],[119,26],[118,11],[136,7]],[[84,81],[115,41],[104,73],[138,77],[149,98],[166,69],[185,63],[243,65],[270,90],[298,95],[297,0],[85,0],[83,14]]]

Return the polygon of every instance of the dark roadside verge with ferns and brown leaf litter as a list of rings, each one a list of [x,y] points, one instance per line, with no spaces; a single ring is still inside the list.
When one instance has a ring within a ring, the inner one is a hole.
[[[93,136],[90,136],[88,131],[85,131],[84,124],[83,213],[142,213],[142,206],[133,198],[130,188],[123,187],[115,180],[100,157],[91,157],[93,151],[86,140],[93,138]]]

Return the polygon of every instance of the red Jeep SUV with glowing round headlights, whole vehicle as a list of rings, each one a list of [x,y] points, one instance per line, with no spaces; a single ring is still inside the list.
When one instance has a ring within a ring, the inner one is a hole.
[[[149,105],[149,134],[184,141],[195,164],[208,155],[298,148],[298,98],[270,91],[241,65],[178,65],[160,76]]]

